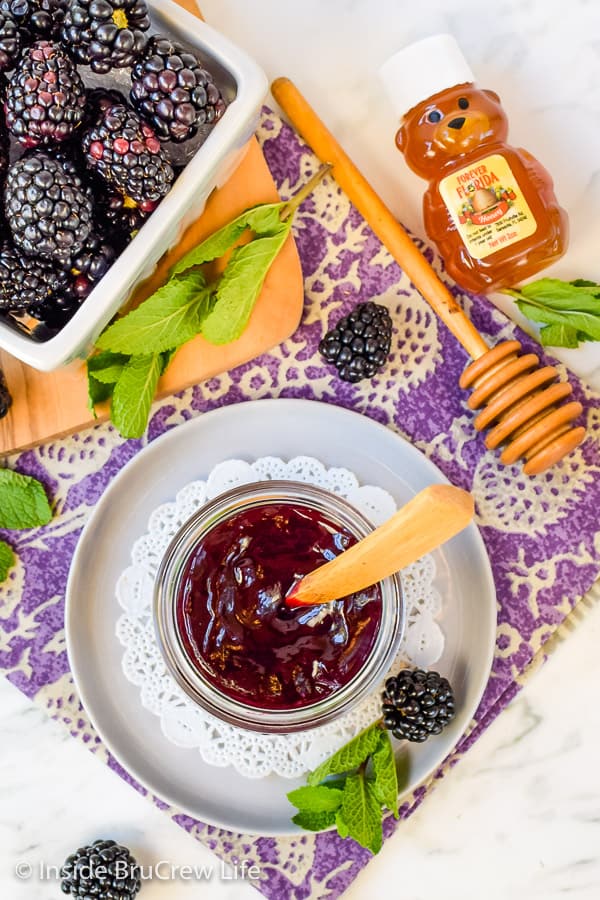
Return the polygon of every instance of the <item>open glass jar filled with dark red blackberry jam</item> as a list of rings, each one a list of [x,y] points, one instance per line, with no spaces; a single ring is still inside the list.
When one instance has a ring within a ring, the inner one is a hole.
[[[295,482],[244,485],[173,539],[155,592],[166,663],[185,692],[257,731],[314,727],[377,687],[403,624],[399,579],[300,609],[285,595],[371,530],[337,495]]]

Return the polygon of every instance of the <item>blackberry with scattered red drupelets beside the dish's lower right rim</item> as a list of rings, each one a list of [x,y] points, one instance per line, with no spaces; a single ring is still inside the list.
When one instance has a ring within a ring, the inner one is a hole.
[[[144,212],[156,208],[175,177],[154,131],[121,104],[102,110],[82,147],[88,166]]]

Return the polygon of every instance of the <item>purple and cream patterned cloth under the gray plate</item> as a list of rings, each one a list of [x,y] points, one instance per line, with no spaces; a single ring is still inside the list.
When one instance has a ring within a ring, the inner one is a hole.
[[[318,167],[297,135],[269,110],[264,111],[259,139],[284,197]],[[496,654],[473,727],[431,782],[404,802],[406,818],[514,697],[523,673],[544,657],[548,640],[598,577],[600,400],[571,375],[575,397],[585,408],[586,442],[536,478],[526,478],[517,467],[500,466],[475,432],[465,395],[457,387],[467,362],[464,351],[331,181],[303,204],[295,237],[306,303],[302,324],[280,347],[157,405],[141,441],[124,441],[111,426],[100,425],[8,460],[44,482],[56,516],[37,531],[0,534],[18,554],[17,566],[0,586],[0,667],[28,697],[146,793],[102,745],[69,673],[64,595],[83,525],[122,466],[148,441],[192,416],[267,397],[303,397],[347,407],[408,437],[450,481],[472,491],[496,582]],[[431,249],[424,249],[439,269]],[[366,299],[390,309],[392,356],[372,382],[349,385],[324,364],[317,345],[327,327]],[[517,336],[528,350],[540,352],[486,299],[463,296],[462,302],[491,343]],[[370,859],[354,842],[331,833],[259,839],[232,835],[152,799],[225,860],[256,863],[264,879],[260,890],[276,900],[339,897]],[[396,827],[401,823],[388,818],[386,836]]]

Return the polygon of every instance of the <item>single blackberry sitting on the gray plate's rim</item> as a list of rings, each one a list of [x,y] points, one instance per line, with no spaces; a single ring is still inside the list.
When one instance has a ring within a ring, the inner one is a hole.
[[[403,669],[382,694],[383,723],[399,740],[422,743],[454,718],[454,695],[438,672]]]

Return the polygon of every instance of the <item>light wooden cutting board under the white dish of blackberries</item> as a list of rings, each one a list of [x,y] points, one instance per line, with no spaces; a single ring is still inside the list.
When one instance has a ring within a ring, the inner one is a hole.
[[[197,13],[193,0],[178,0]],[[167,278],[170,268],[207,235],[256,203],[278,199],[258,143],[253,138],[239,168],[210,196],[202,216],[185,232],[177,247],[160,261],[153,276],[134,295],[139,303]],[[157,213],[159,214],[159,213]],[[287,241],[265,280],[246,331],[222,347],[195,338],[177,353],[159,382],[157,397],[176,393],[219,372],[247,362],[279,344],[296,329],[304,299],[302,270],[293,239]],[[13,405],[0,419],[0,456],[96,423],[87,408],[85,363],[74,362],[55,372],[38,372],[0,350]],[[98,409],[101,421],[108,407]]]

